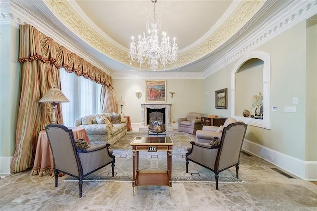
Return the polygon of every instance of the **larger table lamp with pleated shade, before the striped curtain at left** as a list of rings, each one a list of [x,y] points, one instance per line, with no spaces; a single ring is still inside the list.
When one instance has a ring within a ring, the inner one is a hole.
[[[55,124],[55,113],[56,113],[56,105],[57,103],[61,102],[69,102],[66,96],[60,91],[60,89],[54,88],[49,89],[42,98],[39,100],[39,103],[51,103],[53,110],[52,110],[52,124]]]

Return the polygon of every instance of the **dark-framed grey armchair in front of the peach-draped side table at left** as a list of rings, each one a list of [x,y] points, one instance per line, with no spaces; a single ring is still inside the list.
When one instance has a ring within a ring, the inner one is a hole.
[[[58,186],[59,172],[71,175],[79,180],[79,197],[81,197],[83,178],[88,174],[111,164],[112,176],[114,176],[115,156],[109,152],[110,144],[89,147],[87,143],[85,145],[82,142],[77,146],[73,131],[64,125],[49,124],[45,127],[45,131],[54,158],[55,187]]]

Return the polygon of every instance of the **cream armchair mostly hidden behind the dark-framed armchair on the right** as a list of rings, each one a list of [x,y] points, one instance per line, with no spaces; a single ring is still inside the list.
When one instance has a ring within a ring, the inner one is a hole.
[[[216,126],[203,126],[202,130],[196,132],[196,140],[201,143],[209,143],[212,140],[221,138],[222,130],[224,127],[227,127],[231,123],[235,123],[237,120],[235,118],[227,118],[223,125],[220,127]]]

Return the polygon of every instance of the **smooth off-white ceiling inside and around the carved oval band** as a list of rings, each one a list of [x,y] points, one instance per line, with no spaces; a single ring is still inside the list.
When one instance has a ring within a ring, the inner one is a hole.
[[[263,0],[261,0],[263,2]],[[146,16],[153,12],[151,0],[75,0],[68,1],[72,9],[80,14],[89,25],[99,30],[100,35],[110,40],[113,45],[128,52],[131,36],[138,37],[146,30]],[[180,53],[199,46],[210,36],[236,5],[237,0],[158,0],[156,13],[162,16],[162,31],[170,37],[176,37]],[[285,8],[290,1],[266,1],[252,20],[240,27],[219,48],[207,55],[166,72],[202,73],[221,56],[242,42],[247,35],[261,28],[264,21]],[[149,68],[137,69],[85,42],[72,29],[48,8],[42,0],[14,0],[14,4],[36,17],[46,27],[60,34],[73,46],[80,49],[85,56],[96,61],[97,66],[112,74],[129,74],[133,72],[152,72]],[[243,14],[241,14],[243,15]],[[26,21],[27,22],[27,21]],[[40,30],[40,29],[39,29]],[[54,38],[53,38],[54,39]],[[75,51],[74,51],[75,52]],[[161,70],[158,70],[161,71]]]

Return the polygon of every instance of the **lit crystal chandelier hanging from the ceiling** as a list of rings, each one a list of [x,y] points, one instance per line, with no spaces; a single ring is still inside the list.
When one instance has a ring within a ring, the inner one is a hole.
[[[178,47],[176,44],[176,38],[174,37],[174,43],[169,42],[169,37],[166,37],[166,33],[162,33],[163,37],[159,44],[158,33],[161,29],[161,17],[155,13],[155,3],[157,0],[151,0],[153,3],[153,14],[148,15],[146,22],[146,29],[148,35],[143,32],[143,37],[139,35],[138,45],[134,43],[134,38],[129,49],[130,64],[132,62],[139,63],[140,68],[142,66],[150,66],[152,70],[156,70],[158,67],[166,69],[166,64],[175,64],[177,60]]]

